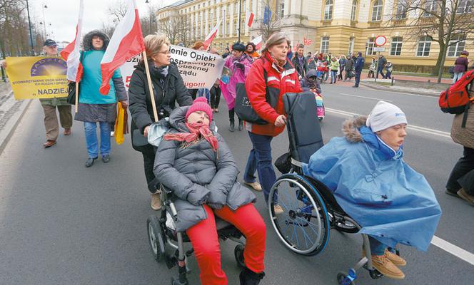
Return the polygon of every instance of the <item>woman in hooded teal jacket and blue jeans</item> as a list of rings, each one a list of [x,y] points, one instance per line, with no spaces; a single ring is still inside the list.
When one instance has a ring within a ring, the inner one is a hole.
[[[78,112],[74,120],[84,122],[86,133],[86,147],[89,157],[86,160],[86,167],[94,165],[94,160],[99,156],[99,140],[97,138],[97,123],[101,129],[101,157],[104,163],[110,160],[111,123],[114,123],[117,115],[117,101],[120,101],[123,108],[126,108],[127,94],[122,76],[119,70],[114,72],[111,79],[111,88],[107,95],[99,93],[102,83],[101,60],[104,57],[109,36],[99,30],[90,31],[84,36],[82,56],[82,66],[84,75],[79,85],[79,105]],[[113,81],[113,82],[112,82]],[[114,84],[112,84],[114,83]]]

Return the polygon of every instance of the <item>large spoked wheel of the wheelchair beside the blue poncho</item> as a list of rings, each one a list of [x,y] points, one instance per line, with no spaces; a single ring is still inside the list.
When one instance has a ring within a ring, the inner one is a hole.
[[[283,213],[275,213],[276,204]],[[268,209],[273,229],[291,251],[312,256],[326,247],[330,229],[326,205],[303,177],[288,174],[278,178],[270,191]]]

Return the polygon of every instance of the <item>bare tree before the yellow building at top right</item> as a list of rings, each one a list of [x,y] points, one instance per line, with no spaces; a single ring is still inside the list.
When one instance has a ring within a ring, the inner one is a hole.
[[[395,0],[393,6],[390,22],[406,21],[410,26],[404,37],[418,43],[419,38],[428,36],[439,44],[433,73],[438,75],[438,83],[441,82],[448,49],[474,39],[474,0]]]

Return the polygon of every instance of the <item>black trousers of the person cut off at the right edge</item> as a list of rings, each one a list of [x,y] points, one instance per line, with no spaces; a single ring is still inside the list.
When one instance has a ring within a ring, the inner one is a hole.
[[[469,195],[474,195],[474,148],[464,147],[463,156],[454,165],[446,183],[450,192],[458,192],[461,187]]]

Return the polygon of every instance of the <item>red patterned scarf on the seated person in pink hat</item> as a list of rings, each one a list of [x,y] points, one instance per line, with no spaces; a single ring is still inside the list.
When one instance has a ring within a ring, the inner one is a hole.
[[[191,133],[168,133],[164,135],[163,138],[165,140],[176,140],[178,142],[183,142],[184,148],[198,142],[201,140],[201,138],[204,138],[211,144],[212,149],[217,152],[217,138],[213,135],[211,130],[209,130],[208,125],[204,125],[202,123],[186,123],[186,127]]]

